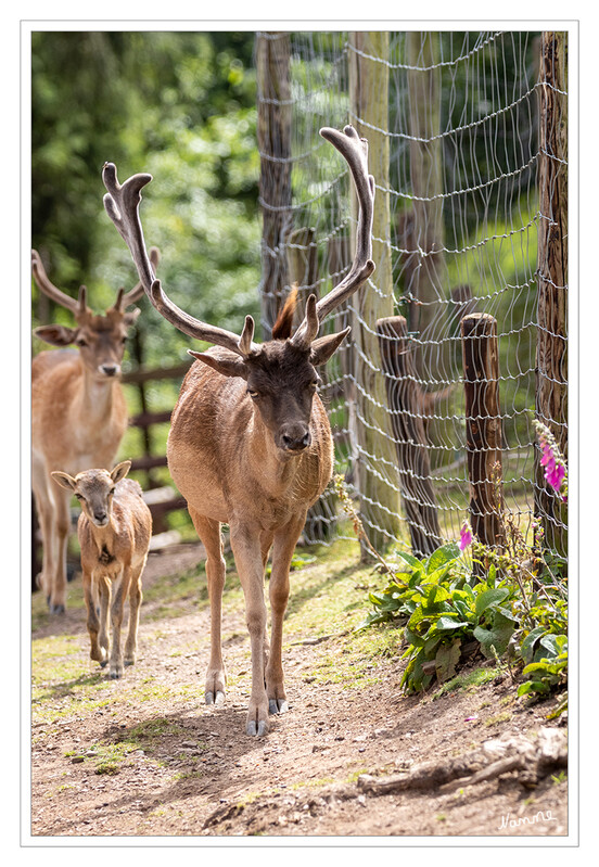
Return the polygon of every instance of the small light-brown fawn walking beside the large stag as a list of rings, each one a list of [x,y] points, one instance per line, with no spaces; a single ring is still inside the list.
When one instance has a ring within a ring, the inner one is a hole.
[[[91,642],[89,655],[102,667],[110,663],[112,679],[122,677],[124,665],[133,665],[136,661],[141,575],[152,535],[152,514],[141,487],[138,482],[125,477],[130,467],[131,461],[126,460],[111,471],[85,470],[75,476],[60,470],[52,472],[54,482],[75,495],[81,505],[77,535]],[[127,596],[129,626],[123,655],[120,627]]]

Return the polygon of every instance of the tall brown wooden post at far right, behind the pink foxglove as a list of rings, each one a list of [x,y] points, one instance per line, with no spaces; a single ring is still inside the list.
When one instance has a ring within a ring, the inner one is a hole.
[[[568,44],[540,39],[536,416],[568,457]],[[568,552],[565,507],[547,485],[535,450],[535,513],[549,548]]]

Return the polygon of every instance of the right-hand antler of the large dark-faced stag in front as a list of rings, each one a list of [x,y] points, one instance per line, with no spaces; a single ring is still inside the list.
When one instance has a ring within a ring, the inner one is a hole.
[[[374,178],[368,174],[368,141],[349,125],[343,132],[323,127],[320,135],[342,154],[354,178],[359,205],[356,254],[349,272],[328,295],[319,302],[315,295],[308,297],[304,321],[291,339],[296,345],[309,345],[324,317],[364,285],[375,267],[371,258]]]

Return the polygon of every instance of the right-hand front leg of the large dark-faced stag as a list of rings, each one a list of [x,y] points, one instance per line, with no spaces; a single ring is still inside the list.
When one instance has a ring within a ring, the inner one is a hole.
[[[268,696],[268,709],[270,713],[275,714],[285,713],[289,710],[282,662],[283,617],[289,599],[291,560],[305,521],[305,513],[302,513],[301,518],[290,521],[286,526],[277,533],[272,547],[272,571],[269,585],[272,635],[266,666],[266,692]]]

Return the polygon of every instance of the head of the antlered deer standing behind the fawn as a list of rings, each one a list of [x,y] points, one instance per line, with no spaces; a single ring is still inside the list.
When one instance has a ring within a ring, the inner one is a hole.
[[[156,267],[160,259],[156,247],[152,247],[150,257]],[[75,299],[51,283],[35,250],[31,251],[31,270],[40,291],[71,310],[76,322],[74,328],[58,323],[40,326],[34,334],[52,346],[77,346],[81,361],[95,380],[118,378],[129,328],[140,314],[138,309],[127,310],[127,307],[143,295],[141,283],[127,293],[120,289],[114,305],[102,316],[93,314],[87,306],[86,286],[79,289],[79,297]]]

